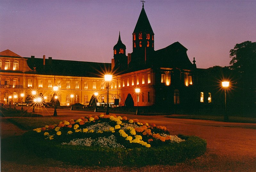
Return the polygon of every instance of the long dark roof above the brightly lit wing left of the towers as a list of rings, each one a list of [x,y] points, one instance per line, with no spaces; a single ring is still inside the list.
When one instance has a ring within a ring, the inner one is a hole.
[[[111,70],[111,63],[45,59],[45,65],[43,65],[43,59],[25,58],[28,59],[29,68],[36,67],[36,74],[40,75],[102,77],[104,73]]]

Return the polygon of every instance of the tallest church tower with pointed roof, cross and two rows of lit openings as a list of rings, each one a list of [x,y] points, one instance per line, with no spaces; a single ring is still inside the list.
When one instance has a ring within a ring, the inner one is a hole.
[[[154,32],[144,10],[144,3],[132,33],[132,50],[133,64],[136,61],[139,65],[147,64],[149,54],[152,54],[154,51]]]

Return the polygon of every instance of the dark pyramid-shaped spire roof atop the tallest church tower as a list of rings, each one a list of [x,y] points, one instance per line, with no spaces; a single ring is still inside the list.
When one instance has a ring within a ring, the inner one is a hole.
[[[140,16],[138,18],[138,21],[133,33],[136,33],[136,32],[149,32],[154,34],[153,29],[149,23],[146,11],[144,10],[144,6],[142,7]]]

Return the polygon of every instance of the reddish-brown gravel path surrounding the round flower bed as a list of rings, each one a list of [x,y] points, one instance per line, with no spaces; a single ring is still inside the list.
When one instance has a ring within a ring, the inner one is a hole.
[[[58,119],[73,119],[76,115],[59,115]],[[92,113],[92,112],[90,112]],[[66,113],[65,113],[66,114]],[[73,112],[74,114],[74,112]],[[67,117],[68,116],[68,117]],[[123,115],[121,115],[123,116]],[[207,140],[204,155],[178,163],[174,166],[155,165],[146,167],[84,167],[42,159],[19,147],[21,135],[26,131],[10,123],[7,118],[1,120],[1,172],[43,172],[43,171],[256,171],[256,124],[224,123],[207,120],[176,119],[164,116],[135,116],[140,121],[154,122],[170,129],[171,134],[196,135]],[[17,151],[18,150],[18,151]]]

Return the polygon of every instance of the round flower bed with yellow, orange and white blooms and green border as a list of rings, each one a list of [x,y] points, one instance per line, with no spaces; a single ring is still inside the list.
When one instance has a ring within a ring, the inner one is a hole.
[[[24,139],[40,156],[80,165],[172,164],[206,151],[196,136],[172,136],[164,126],[104,114],[45,125]]]

